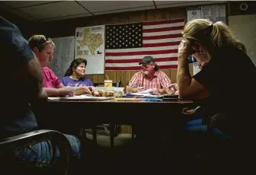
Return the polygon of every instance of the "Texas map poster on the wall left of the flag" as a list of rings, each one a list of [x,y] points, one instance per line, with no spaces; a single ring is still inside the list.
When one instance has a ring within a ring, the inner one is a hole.
[[[85,74],[104,74],[105,26],[75,29],[75,59],[87,59]]]

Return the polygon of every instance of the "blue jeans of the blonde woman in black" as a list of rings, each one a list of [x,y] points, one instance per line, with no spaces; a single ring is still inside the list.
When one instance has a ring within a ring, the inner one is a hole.
[[[186,129],[189,132],[207,132],[207,126],[203,125],[202,119],[192,119],[186,123]],[[213,133],[217,138],[229,139],[228,135],[225,135],[219,129],[213,129]]]

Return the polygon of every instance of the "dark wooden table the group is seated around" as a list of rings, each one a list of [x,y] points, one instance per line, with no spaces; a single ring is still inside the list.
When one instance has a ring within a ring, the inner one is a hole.
[[[39,122],[43,128],[70,133],[69,129],[93,128],[110,122],[110,144],[114,145],[114,124],[156,125],[175,121],[184,107],[193,105],[189,100],[145,102],[142,100],[48,100],[40,110]],[[38,115],[37,115],[38,116]],[[71,134],[71,133],[70,133]],[[96,133],[93,133],[94,137]]]

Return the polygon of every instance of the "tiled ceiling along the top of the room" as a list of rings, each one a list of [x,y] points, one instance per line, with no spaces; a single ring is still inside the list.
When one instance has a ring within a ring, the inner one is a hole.
[[[222,1],[224,2],[224,1]],[[1,1],[0,10],[27,21],[57,21],[98,14],[142,11],[190,5],[209,5],[211,1]]]

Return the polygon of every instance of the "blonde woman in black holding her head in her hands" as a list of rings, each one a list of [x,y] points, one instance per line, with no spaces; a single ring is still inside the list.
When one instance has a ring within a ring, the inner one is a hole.
[[[193,77],[187,59],[191,55],[205,62]],[[249,143],[255,130],[254,104],[250,102],[256,97],[255,78],[256,68],[245,45],[226,24],[206,19],[187,22],[178,47],[177,82],[180,97],[199,101],[205,110],[203,125],[207,132],[200,130],[197,134],[205,132],[209,138],[219,129],[234,141]],[[203,141],[200,144],[206,144]],[[217,148],[214,144],[211,146]]]

